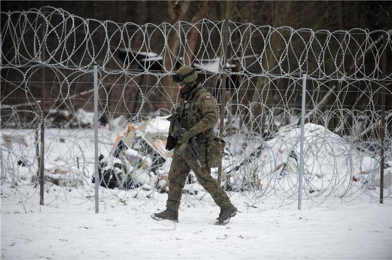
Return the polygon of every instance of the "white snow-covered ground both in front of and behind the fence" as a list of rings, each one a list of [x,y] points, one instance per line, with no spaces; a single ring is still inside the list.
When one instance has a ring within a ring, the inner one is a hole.
[[[99,130],[99,153],[109,154],[121,130]],[[30,180],[38,167],[33,130],[15,133],[26,138],[28,148],[14,144],[1,153],[3,259],[392,259],[391,185],[378,204],[379,190],[372,184],[377,159],[317,126],[309,125],[306,135],[315,146],[305,149],[302,210],[290,155],[298,154],[294,129],[267,141],[260,163],[253,162],[264,171],[260,190],[228,193],[242,213],[226,226],[213,225],[219,209],[198,183],[186,185],[197,194],[183,195],[177,224],[149,217],[164,209],[167,194],[141,187],[99,187],[95,214],[93,130],[47,131],[46,170],[51,176],[68,170],[69,181],[47,183],[45,206],[39,206],[39,186]],[[26,166],[18,165],[22,158]],[[276,168],[283,164],[289,170],[280,177]],[[364,181],[353,181],[357,173]],[[390,168],[386,173],[391,175]]]

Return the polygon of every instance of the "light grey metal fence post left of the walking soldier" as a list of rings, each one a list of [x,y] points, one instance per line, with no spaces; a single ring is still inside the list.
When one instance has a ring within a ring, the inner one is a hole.
[[[95,213],[98,213],[98,67],[94,65],[94,165],[95,165]]]

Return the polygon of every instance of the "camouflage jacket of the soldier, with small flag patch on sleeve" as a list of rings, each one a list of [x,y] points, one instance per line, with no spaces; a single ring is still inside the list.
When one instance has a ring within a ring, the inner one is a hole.
[[[198,141],[205,142],[207,138],[214,138],[214,126],[218,122],[218,109],[214,97],[201,83],[192,90],[187,99],[182,99],[176,108],[180,125],[192,131]],[[171,124],[169,134],[178,132]],[[181,139],[178,138],[178,143]]]

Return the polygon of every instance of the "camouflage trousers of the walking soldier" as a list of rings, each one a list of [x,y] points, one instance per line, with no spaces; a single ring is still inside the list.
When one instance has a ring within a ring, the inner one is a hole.
[[[200,154],[202,168],[192,158],[189,149],[186,149],[181,155],[175,153],[178,145],[174,148],[172,165],[169,171],[169,195],[166,202],[166,208],[178,211],[184,188],[185,181],[189,172],[192,170],[201,186],[212,196],[215,203],[220,208],[226,208],[230,205],[230,199],[223,191],[219,182],[211,176],[211,169],[207,167],[207,143],[200,142],[196,148]]]

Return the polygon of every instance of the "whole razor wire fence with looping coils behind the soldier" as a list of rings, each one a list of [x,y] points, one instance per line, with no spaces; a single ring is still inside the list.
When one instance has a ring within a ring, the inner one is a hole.
[[[1,12],[0,37],[3,209],[35,209],[40,192],[58,211],[94,207],[94,65],[104,208],[166,200],[166,118],[179,103],[171,75],[182,65],[217,101],[226,148],[212,174],[234,203],[295,204],[301,155],[305,205],[378,201],[382,174],[381,197],[391,197],[391,30],[138,25],[47,6]],[[183,201],[213,203],[192,172]]]

